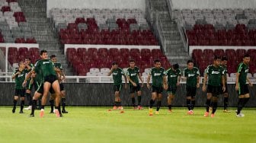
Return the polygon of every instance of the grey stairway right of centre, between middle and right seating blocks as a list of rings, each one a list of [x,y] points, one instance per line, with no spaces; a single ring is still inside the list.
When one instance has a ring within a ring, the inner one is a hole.
[[[162,23],[162,37],[166,40],[165,56],[173,63],[178,63],[181,68],[187,66],[187,60],[190,59],[188,53],[184,50],[184,46],[181,40],[181,35],[178,31],[178,27],[175,21],[171,20],[171,16],[168,12],[168,0],[149,0],[151,5],[153,19],[150,21],[156,21],[156,15],[158,14],[158,21]]]

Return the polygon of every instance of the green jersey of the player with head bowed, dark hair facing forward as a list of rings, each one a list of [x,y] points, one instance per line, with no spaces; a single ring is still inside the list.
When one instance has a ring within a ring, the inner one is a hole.
[[[168,85],[176,86],[178,82],[178,77],[181,76],[181,69],[177,69],[174,71],[172,68],[169,68],[167,71],[165,71],[165,75],[167,75],[168,78]]]

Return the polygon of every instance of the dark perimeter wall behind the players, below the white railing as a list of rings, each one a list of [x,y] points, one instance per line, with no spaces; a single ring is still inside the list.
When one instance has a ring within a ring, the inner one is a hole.
[[[197,89],[196,105],[204,106],[206,101],[206,93],[201,91],[201,87]],[[66,102],[70,106],[113,106],[114,91],[113,84],[88,84],[88,83],[66,83]],[[251,99],[246,106],[256,106],[256,85],[249,87]],[[235,92],[235,84],[228,85],[229,106],[237,106],[238,94]],[[14,95],[14,83],[0,83],[0,105],[12,105]],[[123,106],[130,106],[131,99],[129,90],[122,89],[121,100]],[[142,106],[149,105],[151,91],[142,87]],[[137,100],[136,100],[137,101]],[[27,103],[27,102],[26,102]],[[167,106],[167,93],[164,92],[162,105]],[[186,87],[181,84],[175,95],[174,106],[186,106]],[[219,97],[219,106],[223,105],[223,97]]]

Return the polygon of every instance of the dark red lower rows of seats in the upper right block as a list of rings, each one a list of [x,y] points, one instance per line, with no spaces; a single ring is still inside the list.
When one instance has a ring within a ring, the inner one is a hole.
[[[256,29],[248,30],[245,24],[237,24],[234,29],[216,30],[213,24],[195,24],[187,29],[190,46],[255,46]]]

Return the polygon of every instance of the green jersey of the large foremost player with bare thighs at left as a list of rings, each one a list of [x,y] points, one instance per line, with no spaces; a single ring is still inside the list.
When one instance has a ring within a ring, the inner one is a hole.
[[[49,75],[56,75],[54,64],[50,59],[41,59],[35,64],[35,71],[38,73],[39,70],[43,72],[43,77]]]

